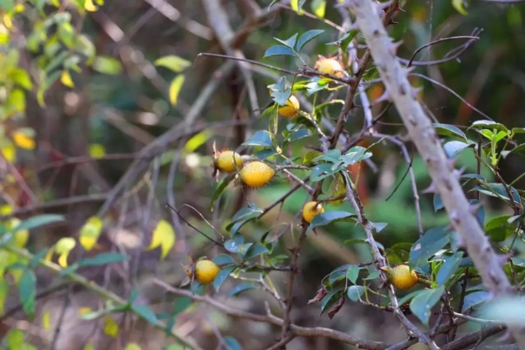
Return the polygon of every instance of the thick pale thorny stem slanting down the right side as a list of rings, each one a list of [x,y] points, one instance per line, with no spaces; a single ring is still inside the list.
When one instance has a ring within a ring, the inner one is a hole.
[[[496,296],[514,293],[514,288],[503,269],[505,260],[493,250],[470,210],[470,204],[461,184],[451,171],[453,167],[444,154],[430,118],[412,94],[407,69],[401,66],[395,56],[392,40],[379,19],[379,9],[368,0],[350,0],[349,3],[356,14],[357,25],[374,57],[386,90],[426,163],[454,230],[458,232],[463,246],[482,276],[484,286]],[[519,329],[513,329],[511,332],[518,343],[525,344],[525,336],[519,334]]]

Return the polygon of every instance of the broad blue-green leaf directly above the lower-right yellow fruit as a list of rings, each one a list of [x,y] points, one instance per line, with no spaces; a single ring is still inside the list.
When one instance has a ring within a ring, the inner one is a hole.
[[[410,249],[409,262],[416,267],[422,262],[426,263],[428,258],[440,251],[450,242],[451,231],[446,226],[433,228],[425,232]]]

